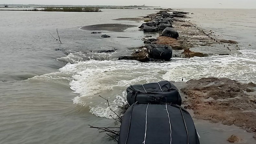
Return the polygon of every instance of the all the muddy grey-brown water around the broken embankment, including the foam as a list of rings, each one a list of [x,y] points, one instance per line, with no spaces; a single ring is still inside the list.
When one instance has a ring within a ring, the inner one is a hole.
[[[114,21],[139,17],[155,10],[104,9],[102,13],[1,11],[0,17],[0,143],[113,144],[94,126],[113,126],[112,115],[98,95],[110,97],[111,108],[125,101],[131,84],[161,80],[180,82],[202,77],[225,77],[256,82],[255,10],[190,9],[191,19],[225,39],[239,41],[241,55],[206,58],[173,58],[170,62],[115,61],[143,44],[149,33],[137,27],[125,32],[81,30],[87,25],[119,23],[140,26],[136,21]],[[234,12],[238,16],[233,19]],[[207,14],[207,17],[200,17]],[[218,15],[217,15],[218,14]],[[29,17],[29,18],[28,18]],[[56,36],[58,28],[63,44]],[[152,34],[154,37],[157,34]],[[121,39],[118,37],[129,37]],[[248,45],[251,46],[248,46]],[[114,53],[91,50],[118,49]],[[59,50],[56,50],[59,49]],[[209,49],[210,50],[210,49]],[[179,84],[177,84],[179,85]],[[238,127],[195,120],[201,143],[228,143],[231,134],[255,143],[251,133]]]

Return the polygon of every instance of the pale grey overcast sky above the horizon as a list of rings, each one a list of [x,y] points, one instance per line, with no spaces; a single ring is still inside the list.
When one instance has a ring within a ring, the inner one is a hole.
[[[222,3],[219,4],[219,3]],[[256,8],[256,0],[0,0],[0,4],[147,5],[170,8]]]

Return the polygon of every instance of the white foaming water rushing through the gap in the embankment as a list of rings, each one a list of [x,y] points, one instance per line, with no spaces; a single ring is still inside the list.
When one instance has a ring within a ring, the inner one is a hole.
[[[89,106],[90,112],[110,118],[112,110],[126,101],[122,93],[133,84],[152,83],[162,80],[186,82],[203,77],[229,78],[241,82],[256,82],[255,59],[243,55],[173,58],[170,62],[139,61],[76,61],[60,68],[61,73],[72,75],[70,88],[79,96],[73,98],[77,105]],[[108,107],[99,95],[108,95]]]

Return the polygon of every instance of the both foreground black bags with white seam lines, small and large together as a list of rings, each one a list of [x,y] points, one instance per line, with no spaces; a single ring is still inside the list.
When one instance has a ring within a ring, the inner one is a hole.
[[[169,81],[129,86],[127,101],[118,144],[199,144],[192,117]]]

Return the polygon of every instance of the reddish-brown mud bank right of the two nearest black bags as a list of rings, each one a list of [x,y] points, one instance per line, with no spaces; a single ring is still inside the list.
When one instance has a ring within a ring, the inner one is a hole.
[[[256,87],[230,79],[190,80],[181,92],[195,118],[256,132]]]

